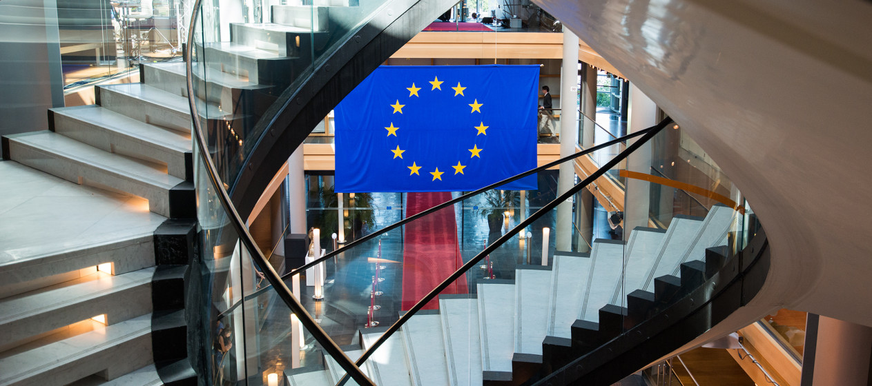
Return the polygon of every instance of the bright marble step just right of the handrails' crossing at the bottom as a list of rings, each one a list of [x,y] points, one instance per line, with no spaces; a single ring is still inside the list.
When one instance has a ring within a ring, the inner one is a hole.
[[[385,330],[387,330],[386,327],[364,329],[360,335],[360,343],[364,349],[369,349]],[[403,334],[394,334],[372,353],[370,359],[365,362],[372,382],[378,385],[412,386],[404,346]]]

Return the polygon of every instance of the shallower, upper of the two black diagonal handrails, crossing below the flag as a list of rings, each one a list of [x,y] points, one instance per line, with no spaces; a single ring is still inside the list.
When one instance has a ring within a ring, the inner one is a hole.
[[[634,133],[632,133],[632,134],[625,135],[625,136],[623,136],[623,137],[621,137],[621,138],[619,138],[619,139],[612,139],[612,140],[610,140],[609,142],[605,142],[605,143],[603,143],[603,144],[601,144],[601,145],[597,145],[597,146],[590,147],[589,149],[584,149],[584,150],[582,150],[581,152],[576,152],[575,154],[569,155],[569,156],[567,156],[567,157],[563,157],[562,159],[557,159],[557,160],[555,160],[555,161],[553,161],[553,162],[549,162],[548,164],[545,164],[545,165],[542,165],[542,166],[536,167],[535,169],[530,169],[530,170],[528,170],[527,172],[524,172],[524,173],[521,173],[521,174],[514,175],[514,176],[512,176],[512,177],[509,177],[508,179],[503,179],[503,180],[501,180],[501,181],[494,182],[493,184],[488,185],[488,186],[485,186],[485,187],[482,187],[482,188],[480,188],[479,190],[476,190],[476,191],[474,191],[474,192],[470,192],[470,193],[463,194],[463,195],[461,195],[460,197],[458,197],[458,198],[456,198],[456,199],[448,200],[448,201],[446,201],[446,202],[443,202],[443,203],[441,203],[441,204],[439,204],[439,205],[437,205],[437,206],[435,206],[435,207],[431,207],[430,209],[427,209],[427,210],[424,211],[424,212],[417,213],[417,214],[415,214],[415,215],[412,215],[412,216],[406,217],[406,218],[403,219],[403,220],[399,220],[399,221],[397,221],[397,222],[395,222],[395,223],[393,223],[393,224],[391,224],[391,225],[389,225],[389,226],[387,226],[387,227],[384,227],[384,228],[382,228],[382,229],[379,229],[377,232],[373,232],[373,233],[371,233],[371,234],[367,234],[367,235],[365,235],[364,237],[361,237],[361,238],[358,239],[358,240],[351,241],[351,243],[346,244],[344,247],[341,247],[341,248],[339,248],[339,249],[337,249],[337,250],[335,250],[335,251],[333,251],[333,252],[330,252],[329,254],[325,254],[324,257],[322,257],[322,258],[320,258],[320,259],[317,259],[317,260],[315,260],[315,261],[311,261],[310,263],[304,264],[302,267],[297,267],[297,268],[295,268],[293,271],[290,271],[290,272],[287,273],[287,274],[283,274],[283,276],[282,276],[282,280],[288,280],[289,277],[291,277],[291,276],[293,276],[293,275],[295,275],[295,274],[299,274],[299,273],[303,272],[304,270],[306,270],[306,269],[308,269],[308,268],[310,268],[310,267],[314,267],[315,265],[317,265],[317,264],[320,263],[321,261],[327,261],[328,259],[330,259],[330,257],[333,257],[333,256],[335,256],[335,255],[337,255],[337,254],[342,254],[342,253],[344,253],[346,249],[349,249],[349,248],[351,248],[351,247],[355,247],[355,246],[357,246],[358,244],[363,243],[363,242],[365,242],[365,241],[372,240],[372,239],[378,237],[378,236],[381,235],[381,234],[385,234],[385,232],[389,232],[389,231],[391,231],[391,230],[393,230],[393,229],[396,229],[397,227],[400,227],[400,226],[404,225],[405,223],[407,223],[407,222],[409,222],[409,221],[417,220],[417,219],[419,219],[420,217],[424,217],[424,216],[426,216],[427,214],[430,214],[430,213],[436,212],[436,211],[438,211],[439,209],[442,209],[442,208],[444,208],[444,207],[451,206],[451,205],[456,204],[456,203],[458,203],[458,202],[460,202],[460,201],[462,201],[462,200],[466,200],[466,199],[468,199],[468,198],[470,198],[470,197],[472,197],[472,196],[474,196],[474,195],[476,195],[476,194],[480,194],[480,193],[482,193],[482,192],[486,192],[486,191],[488,191],[488,190],[494,189],[494,188],[497,187],[497,186],[506,185],[506,184],[508,184],[509,182],[512,182],[512,181],[514,181],[514,180],[522,179],[522,178],[527,177],[528,175],[531,175],[531,174],[534,174],[534,173],[539,173],[539,172],[541,172],[541,171],[543,171],[543,170],[545,170],[545,169],[548,169],[549,167],[560,165],[560,164],[562,164],[563,162],[568,161],[569,159],[576,159],[576,158],[578,158],[578,157],[581,157],[582,155],[589,154],[589,153],[591,153],[591,152],[596,152],[597,150],[604,149],[604,148],[606,148],[606,147],[609,147],[609,146],[615,145],[615,144],[620,143],[620,142],[623,142],[623,141],[625,141],[625,140],[627,140],[627,139],[633,139],[633,138],[636,138],[636,137],[638,137],[638,136],[640,136],[640,135],[644,135],[644,133],[648,132],[648,130],[651,130],[651,128],[649,128],[649,129],[645,129],[645,130],[641,130],[641,131],[639,131],[639,132],[634,132]]]

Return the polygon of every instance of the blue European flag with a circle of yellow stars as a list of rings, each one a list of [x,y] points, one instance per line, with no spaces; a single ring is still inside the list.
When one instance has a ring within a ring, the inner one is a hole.
[[[535,168],[538,80],[538,65],[379,67],[335,110],[336,192],[472,191]]]

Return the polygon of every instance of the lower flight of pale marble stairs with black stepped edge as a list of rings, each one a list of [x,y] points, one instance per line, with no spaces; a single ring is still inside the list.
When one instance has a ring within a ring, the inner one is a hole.
[[[589,254],[557,252],[551,266],[519,267],[514,281],[440,295],[439,309],[412,316],[362,369],[379,385],[521,384],[547,375],[640,322],[651,303],[698,285],[706,248],[726,243],[732,214],[715,206],[705,218],[677,216],[667,229],[637,227],[626,243],[595,240]],[[362,329],[360,345],[344,349],[356,359],[385,329]],[[328,385],[343,371],[327,358],[324,369],[286,375],[292,385]]]

